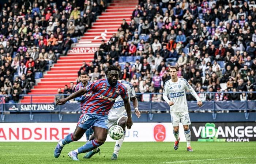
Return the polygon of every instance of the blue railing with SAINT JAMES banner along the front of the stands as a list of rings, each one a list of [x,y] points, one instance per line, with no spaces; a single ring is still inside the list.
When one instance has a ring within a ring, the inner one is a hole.
[[[234,92],[203,92],[197,94],[214,94],[215,93],[223,93],[223,94],[233,94]],[[249,112],[256,112],[256,101],[247,100],[248,94],[254,92],[236,92],[237,94],[245,93],[245,101],[203,101],[203,106],[199,108],[197,106],[196,101],[188,101],[188,109],[190,112],[208,112],[212,113],[212,117],[216,118],[217,113],[229,113],[229,112],[244,112],[245,118],[248,118]],[[169,105],[162,100],[161,93],[136,93],[137,95],[141,95],[144,97],[144,101],[139,102],[139,109],[143,113],[168,113],[169,112]],[[153,95],[161,96],[158,99],[158,102],[154,102]],[[186,93],[190,94],[190,93]],[[30,102],[28,103],[14,103],[14,102],[4,102],[5,96],[10,95],[0,95],[0,112],[1,112],[1,119],[4,120],[4,114],[11,114],[11,113],[30,113],[30,120],[33,120],[33,113],[37,112],[44,112],[44,113],[55,113],[59,114],[61,117],[61,113],[80,113],[80,103],[77,101],[69,101],[65,105],[55,105],[55,103],[33,103],[33,97],[37,96],[68,96],[69,94],[40,94],[40,95],[25,95],[22,94],[20,97],[23,96],[30,96]],[[160,102],[159,102],[160,101]],[[119,104],[116,104],[119,105]],[[133,104],[131,103],[131,107],[133,108]],[[61,119],[61,118],[60,118]]]

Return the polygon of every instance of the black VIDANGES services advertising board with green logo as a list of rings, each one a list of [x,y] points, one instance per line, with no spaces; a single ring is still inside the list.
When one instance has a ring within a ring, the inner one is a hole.
[[[256,122],[192,123],[191,141],[256,141]]]

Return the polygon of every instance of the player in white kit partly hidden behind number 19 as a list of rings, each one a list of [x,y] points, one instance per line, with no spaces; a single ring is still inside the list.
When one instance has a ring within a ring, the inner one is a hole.
[[[138,118],[140,118],[140,111],[138,109],[138,99],[136,98],[134,87],[132,86],[131,82],[119,80],[126,88],[128,92],[128,99],[132,99],[132,103],[134,106],[135,114]],[[116,140],[116,144],[114,147],[114,152],[111,157],[112,160],[117,160],[117,156],[119,154],[121,145],[123,144],[124,138],[125,138],[125,126],[127,122],[127,113],[124,108],[124,101],[121,98],[121,96],[116,98],[116,101],[113,105],[113,107],[109,110],[108,115],[108,128],[110,129],[113,125],[119,125],[124,129],[124,135],[119,140]],[[90,140],[94,139],[94,134],[91,135]],[[90,152],[88,152],[84,158],[91,158],[94,154],[99,152],[99,148],[96,148]]]

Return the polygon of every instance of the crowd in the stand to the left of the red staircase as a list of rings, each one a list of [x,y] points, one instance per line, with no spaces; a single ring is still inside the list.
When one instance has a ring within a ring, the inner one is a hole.
[[[0,3],[0,95],[18,102],[35,76],[67,54],[72,37],[91,27],[106,0],[8,0]],[[42,75],[42,74],[39,74]]]

